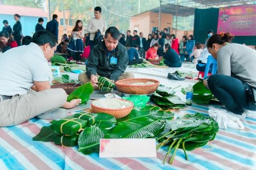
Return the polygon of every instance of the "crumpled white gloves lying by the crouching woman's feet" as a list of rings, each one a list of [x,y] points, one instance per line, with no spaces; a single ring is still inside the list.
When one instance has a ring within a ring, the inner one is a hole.
[[[236,130],[244,129],[244,124],[240,121],[246,117],[245,113],[243,115],[236,115],[225,109],[218,109],[215,107],[209,107],[209,116],[218,122],[221,129],[227,130],[227,128],[232,128]]]

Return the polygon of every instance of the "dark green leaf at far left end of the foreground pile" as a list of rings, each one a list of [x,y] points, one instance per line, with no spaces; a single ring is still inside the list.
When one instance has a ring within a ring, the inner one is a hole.
[[[33,137],[33,141],[53,141],[53,137],[58,136],[54,132],[53,126],[44,126],[41,131]]]

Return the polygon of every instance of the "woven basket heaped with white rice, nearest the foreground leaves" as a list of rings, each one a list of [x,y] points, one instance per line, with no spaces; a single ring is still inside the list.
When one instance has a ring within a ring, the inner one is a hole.
[[[101,100],[101,99],[99,99],[99,100]],[[125,99],[119,99],[119,100],[128,101]],[[134,107],[133,102],[131,102],[131,101],[128,101],[128,102],[130,102],[132,105],[130,107],[125,107],[122,109],[106,109],[106,108],[102,108],[102,107],[97,107],[93,104],[93,102],[91,103],[91,106],[92,106],[94,113],[107,113],[109,115],[114,116],[115,118],[123,118],[126,115],[128,115],[131,112],[132,108]]]

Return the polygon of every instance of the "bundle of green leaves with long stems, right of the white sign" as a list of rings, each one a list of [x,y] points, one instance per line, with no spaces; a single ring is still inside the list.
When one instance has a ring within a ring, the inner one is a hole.
[[[186,160],[189,160],[186,150],[194,150],[206,145],[209,140],[214,140],[218,129],[216,121],[200,113],[184,115],[174,121],[166,120],[163,128],[156,135],[157,141],[160,142],[157,144],[157,150],[167,146],[163,163],[172,153],[169,160],[169,164],[172,164],[178,148],[183,149]]]

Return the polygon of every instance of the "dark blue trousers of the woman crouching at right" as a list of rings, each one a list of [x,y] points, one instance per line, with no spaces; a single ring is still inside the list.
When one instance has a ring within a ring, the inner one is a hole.
[[[212,94],[231,112],[241,115],[244,109],[256,111],[253,102],[247,98],[241,80],[227,75],[211,75],[208,86]],[[250,88],[247,85],[247,88]]]

